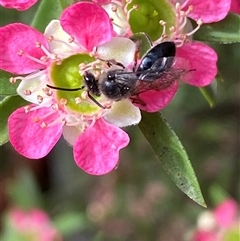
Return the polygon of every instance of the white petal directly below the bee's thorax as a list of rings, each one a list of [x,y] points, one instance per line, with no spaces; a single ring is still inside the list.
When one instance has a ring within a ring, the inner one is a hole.
[[[141,112],[129,99],[115,102],[104,119],[118,127],[136,125],[141,120]]]

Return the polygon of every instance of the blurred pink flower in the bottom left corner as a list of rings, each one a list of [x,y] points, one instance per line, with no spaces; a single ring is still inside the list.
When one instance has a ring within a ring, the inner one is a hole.
[[[57,241],[58,231],[53,227],[48,215],[40,209],[23,211],[15,208],[8,215],[11,228],[24,240]]]

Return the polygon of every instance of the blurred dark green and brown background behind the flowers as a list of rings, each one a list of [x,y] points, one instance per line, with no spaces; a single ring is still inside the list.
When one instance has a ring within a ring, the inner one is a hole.
[[[0,25],[30,23],[37,8],[0,7]],[[211,46],[224,80],[218,82],[215,106],[197,88],[182,85],[162,111],[189,154],[209,208],[221,198],[219,190],[236,200],[240,190],[240,44]],[[174,185],[137,126],[125,130],[131,143],[121,151],[118,169],[101,177],[80,170],[63,139],[42,160],[1,146],[1,214],[13,203],[39,205],[67,241],[186,240],[204,208]]]

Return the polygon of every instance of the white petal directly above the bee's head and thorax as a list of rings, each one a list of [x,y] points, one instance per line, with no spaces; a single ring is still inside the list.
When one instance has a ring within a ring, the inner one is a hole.
[[[134,61],[136,44],[123,37],[112,38],[110,42],[104,43],[97,48],[97,55],[103,60],[115,60],[125,67]]]

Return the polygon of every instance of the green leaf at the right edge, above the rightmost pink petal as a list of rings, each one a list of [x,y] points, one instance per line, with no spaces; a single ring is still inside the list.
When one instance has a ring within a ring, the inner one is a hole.
[[[217,23],[203,24],[194,39],[215,43],[240,43],[240,15],[229,13]]]

